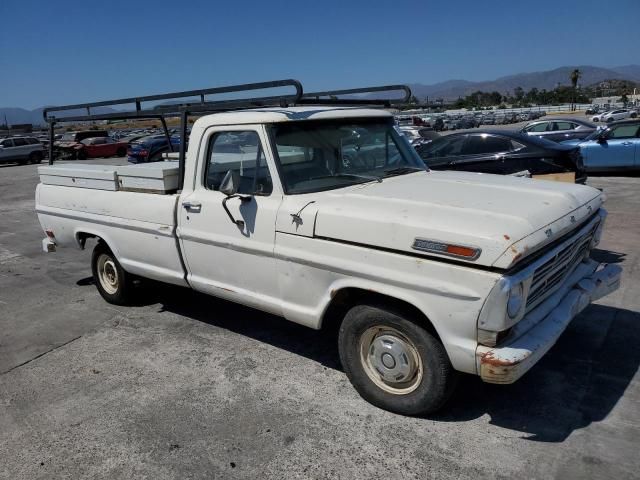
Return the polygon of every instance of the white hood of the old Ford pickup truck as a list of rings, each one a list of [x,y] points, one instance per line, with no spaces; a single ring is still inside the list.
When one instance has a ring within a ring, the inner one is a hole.
[[[416,239],[479,249],[458,260],[510,268],[598,210],[600,191],[468,172],[418,172],[316,194],[313,236],[416,255]],[[293,233],[293,232],[292,232]]]

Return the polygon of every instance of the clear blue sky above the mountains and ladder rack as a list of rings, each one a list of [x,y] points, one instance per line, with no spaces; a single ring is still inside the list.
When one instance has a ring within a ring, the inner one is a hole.
[[[0,0],[0,106],[640,63],[640,0]]]

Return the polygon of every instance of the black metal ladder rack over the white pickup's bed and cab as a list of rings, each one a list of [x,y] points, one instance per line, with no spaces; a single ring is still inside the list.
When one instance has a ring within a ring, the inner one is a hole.
[[[270,90],[275,88],[289,88],[293,91],[288,94],[266,95],[251,98],[236,98],[224,100],[209,100],[208,95],[225,95],[255,90]],[[402,92],[399,98],[369,98],[373,93]],[[348,95],[348,98],[339,98]],[[200,97],[199,101],[179,100]],[[164,134],[167,137],[169,148],[172,149],[169,131],[167,129],[167,117],[180,117],[180,155],[179,155],[179,188],[182,189],[184,181],[184,158],[186,153],[187,120],[189,115],[203,115],[225,111],[244,110],[260,107],[290,107],[295,105],[327,105],[327,106],[370,106],[391,107],[407,104],[411,98],[411,90],[406,85],[385,85],[379,87],[353,88],[346,90],[328,90],[325,92],[304,93],[302,84],[298,80],[286,79],[270,82],[247,83],[243,85],[230,85],[226,87],[206,88],[200,90],[187,90],[182,92],[164,93],[159,95],[147,95],[142,97],[119,98],[101,102],[77,103],[47,107],[43,110],[44,120],[49,124],[49,164],[54,162],[54,128],[56,123],[63,122],[89,122],[95,120],[133,120],[133,119],[158,119],[162,123]],[[147,107],[143,104],[149,102],[164,101],[160,105]],[[92,109],[99,107],[120,107],[134,105],[135,109],[128,111],[115,111],[108,113],[92,113]],[[85,115],[71,115],[56,117],[55,113],[86,110]]]

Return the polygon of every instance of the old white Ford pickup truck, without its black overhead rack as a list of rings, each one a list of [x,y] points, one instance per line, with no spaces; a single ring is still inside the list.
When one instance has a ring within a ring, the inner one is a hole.
[[[142,277],[315,329],[338,321],[350,381],[394,412],[437,410],[458,372],[516,381],[619,286],[618,266],[590,259],[600,191],[429,171],[383,110],[206,115],[180,191],[124,186],[152,167],[161,182],[176,168],[41,167],[45,250],[97,239],[93,275],[110,303]]]

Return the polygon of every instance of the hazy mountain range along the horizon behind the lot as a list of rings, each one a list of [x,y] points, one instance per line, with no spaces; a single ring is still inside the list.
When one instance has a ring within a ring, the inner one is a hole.
[[[604,80],[630,80],[640,82],[640,65],[624,65],[614,68],[594,67],[591,65],[565,66],[547,70],[543,72],[518,73],[508,75],[506,77],[496,78],[495,80],[487,80],[480,82],[470,82],[467,80],[447,80],[445,82],[434,83],[432,85],[424,85],[421,83],[409,84],[413,94],[418,99],[423,100],[425,97],[430,99],[442,98],[452,100],[458,97],[464,97],[472,92],[481,90],[484,92],[497,91],[502,94],[512,93],[516,87],[522,87],[525,91],[531,88],[539,90],[553,90],[558,85],[569,85],[569,76],[574,68],[580,69],[582,77],[580,85],[593,85]],[[94,110],[94,113],[109,113],[115,110],[108,107],[100,107]],[[84,111],[70,110],[67,115],[82,115]],[[0,107],[0,124],[4,123],[5,116],[9,124],[32,123],[40,125],[43,123],[42,107],[35,110],[26,110],[24,108],[2,108]]]

